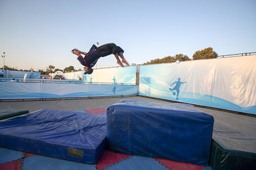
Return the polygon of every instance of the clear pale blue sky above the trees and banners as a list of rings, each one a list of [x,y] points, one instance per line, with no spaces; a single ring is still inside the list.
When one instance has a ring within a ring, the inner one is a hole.
[[[115,43],[132,64],[212,47],[219,55],[256,52],[256,1],[1,0],[5,65],[83,69],[70,51]],[[1,67],[3,57],[1,57]],[[118,66],[114,55],[97,67]]]

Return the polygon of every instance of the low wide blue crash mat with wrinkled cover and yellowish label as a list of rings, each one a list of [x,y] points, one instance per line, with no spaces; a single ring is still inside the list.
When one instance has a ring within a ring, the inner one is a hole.
[[[0,146],[96,164],[106,150],[106,115],[43,109],[0,122]]]

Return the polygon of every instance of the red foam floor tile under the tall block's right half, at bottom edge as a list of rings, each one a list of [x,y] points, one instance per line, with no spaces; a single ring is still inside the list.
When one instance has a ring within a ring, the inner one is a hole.
[[[165,167],[169,168],[170,170],[201,170],[204,169],[205,166],[188,164],[188,163],[181,163],[175,162],[173,160],[161,159],[161,158],[153,158],[157,162],[161,163]]]

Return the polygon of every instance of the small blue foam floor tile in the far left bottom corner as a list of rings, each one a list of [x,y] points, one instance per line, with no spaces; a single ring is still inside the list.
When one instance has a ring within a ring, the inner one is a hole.
[[[23,152],[7,149],[7,148],[0,148],[0,164],[4,164],[7,162],[12,162],[12,160],[18,160],[22,158]]]

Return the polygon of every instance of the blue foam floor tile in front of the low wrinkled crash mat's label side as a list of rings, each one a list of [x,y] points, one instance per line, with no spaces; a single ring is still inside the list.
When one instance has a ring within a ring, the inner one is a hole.
[[[51,158],[46,156],[35,155],[24,159],[23,170],[65,170],[65,169],[76,169],[76,170],[96,170],[94,165],[82,164],[71,162],[68,160],[62,160],[57,158]]]

